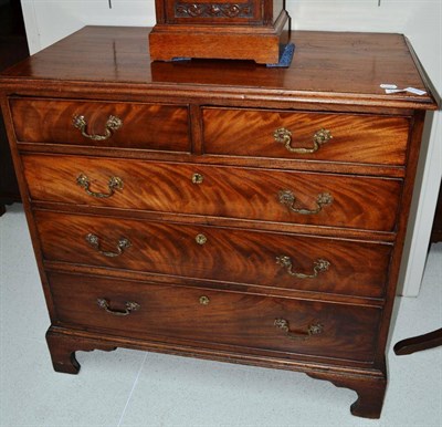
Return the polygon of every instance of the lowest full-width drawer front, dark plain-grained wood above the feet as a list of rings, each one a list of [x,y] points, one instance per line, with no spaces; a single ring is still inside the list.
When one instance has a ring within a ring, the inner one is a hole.
[[[288,358],[294,353],[370,363],[375,355],[380,309],[64,273],[50,273],[49,280],[65,324],[198,346],[234,345],[249,353],[260,348]]]

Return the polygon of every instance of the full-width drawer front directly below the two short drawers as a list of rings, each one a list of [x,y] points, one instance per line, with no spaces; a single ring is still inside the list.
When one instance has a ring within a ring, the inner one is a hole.
[[[401,194],[400,179],[85,157],[22,158],[34,200],[126,209],[393,231]]]

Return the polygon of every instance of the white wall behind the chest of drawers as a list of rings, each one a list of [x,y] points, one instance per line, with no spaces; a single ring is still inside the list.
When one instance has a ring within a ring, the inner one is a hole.
[[[86,24],[155,24],[154,0],[22,0],[31,53]],[[442,0],[287,0],[295,30],[398,32],[406,34],[442,95]],[[442,176],[441,113],[422,153],[402,271],[403,294],[417,295]]]

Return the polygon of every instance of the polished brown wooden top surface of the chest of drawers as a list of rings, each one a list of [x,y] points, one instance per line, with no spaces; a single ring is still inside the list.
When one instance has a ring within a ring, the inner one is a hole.
[[[218,91],[266,96],[339,98],[352,104],[436,108],[411,45],[401,34],[294,31],[288,69],[252,61],[152,62],[148,28],[85,27],[1,74],[3,84]],[[427,91],[386,95],[379,86]],[[357,100],[357,101],[356,101]]]

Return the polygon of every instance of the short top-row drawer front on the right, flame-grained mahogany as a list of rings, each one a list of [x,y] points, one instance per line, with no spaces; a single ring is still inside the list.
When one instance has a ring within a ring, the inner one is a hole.
[[[202,115],[208,154],[392,166],[406,163],[410,126],[406,117],[224,108],[203,108]],[[282,131],[275,137],[277,129]]]

